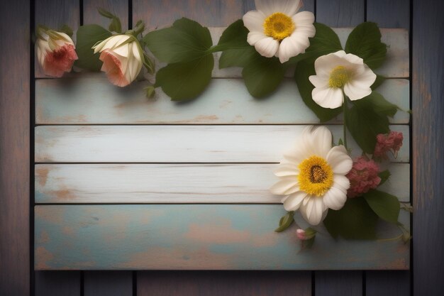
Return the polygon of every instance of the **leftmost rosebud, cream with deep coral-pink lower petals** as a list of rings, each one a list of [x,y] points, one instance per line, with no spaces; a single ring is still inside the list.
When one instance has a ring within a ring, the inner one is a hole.
[[[75,46],[70,36],[57,31],[39,31],[37,57],[45,75],[62,77],[70,72],[74,60],[77,60]]]

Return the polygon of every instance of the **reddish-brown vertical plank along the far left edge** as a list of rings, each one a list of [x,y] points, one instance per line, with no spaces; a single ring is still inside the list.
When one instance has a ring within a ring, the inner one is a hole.
[[[30,293],[30,1],[0,1],[0,295]]]

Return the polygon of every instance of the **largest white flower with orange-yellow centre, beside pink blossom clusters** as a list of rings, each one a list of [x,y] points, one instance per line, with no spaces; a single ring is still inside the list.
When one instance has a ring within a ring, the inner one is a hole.
[[[308,126],[293,150],[274,171],[281,180],[270,191],[285,195],[287,211],[299,209],[311,225],[318,225],[328,209],[341,209],[347,200],[350,181],[345,175],[353,160],[344,146],[332,148],[331,132],[325,126]]]

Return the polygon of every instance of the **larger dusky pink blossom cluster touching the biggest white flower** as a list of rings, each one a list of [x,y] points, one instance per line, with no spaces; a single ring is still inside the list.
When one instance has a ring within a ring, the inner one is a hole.
[[[379,166],[374,160],[367,160],[363,156],[355,158],[353,168],[348,172],[348,180],[350,180],[350,188],[348,189],[348,197],[358,197],[371,189],[376,188],[381,182],[378,176]]]

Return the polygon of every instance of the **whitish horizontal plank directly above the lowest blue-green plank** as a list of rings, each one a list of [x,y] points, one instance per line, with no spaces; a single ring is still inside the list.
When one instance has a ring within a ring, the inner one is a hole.
[[[274,164],[35,165],[37,203],[279,203]],[[410,200],[410,165],[381,189]]]

